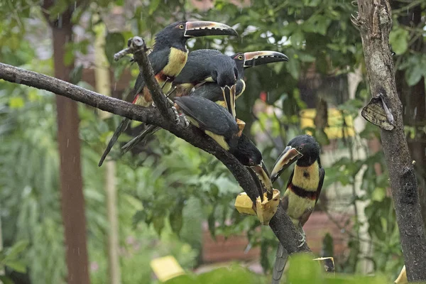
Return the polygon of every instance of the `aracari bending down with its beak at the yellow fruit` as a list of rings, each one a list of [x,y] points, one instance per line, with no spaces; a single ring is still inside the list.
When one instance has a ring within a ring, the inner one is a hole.
[[[242,133],[229,111],[204,97],[177,97],[175,102],[191,124],[212,137],[241,164],[254,170],[259,179],[266,177],[269,180],[261,151]],[[263,185],[266,184],[265,180],[261,179],[261,181]]]

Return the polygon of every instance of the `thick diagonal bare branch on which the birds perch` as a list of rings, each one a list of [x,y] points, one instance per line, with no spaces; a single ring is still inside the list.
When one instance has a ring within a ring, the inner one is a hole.
[[[149,67],[151,68],[151,66]],[[239,185],[241,185],[251,200],[255,201],[256,197],[258,197],[256,184],[244,165],[241,165],[234,155],[225,151],[224,148],[220,147],[212,138],[202,133],[202,131],[197,129],[195,126],[190,126],[185,129],[180,126],[180,124],[176,124],[174,120],[170,121],[165,119],[164,116],[160,115],[160,112],[157,109],[146,109],[144,107],[130,104],[129,102],[106,97],[102,94],[98,94],[97,92],[89,91],[88,89],[75,86],[62,80],[37,72],[24,70],[22,68],[13,67],[11,65],[0,63],[0,79],[16,84],[25,84],[37,89],[44,89],[70,99],[74,99],[77,102],[89,104],[90,106],[102,109],[103,111],[111,112],[112,114],[118,114],[120,116],[128,117],[129,119],[160,126],[161,128],[170,131],[170,133],[175,134],[175,136],[184,139],[193,146],[214,155],[231,171],[232,175],[234,175],[236,180],[239,182]],[[152,80],[146,81],[148,89],[159,88],[158,84],[154,84],[153,86],[151,81]],[[159,92],[161,94],[160,90]],[[278,207],[275,216],[269,223],[269,226],[271,226],[274,234],[277,236],[280,243],[283,244],[288,253],[292,254],[302,251],[310,251],[307,244],[298,247],[299,241],[297,239],[299,239],[300,234],[295,229],[295,226],[288,215],[285,214],[282,207]]]

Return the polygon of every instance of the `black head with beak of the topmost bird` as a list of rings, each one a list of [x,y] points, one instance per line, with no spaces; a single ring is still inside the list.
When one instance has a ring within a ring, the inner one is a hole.
[[[186,50],[188,38],[206,35],[238,35],[236,31],[224,23],[211,21],[178,21],[171,23],[155,35],[153,50],[161,48],[178,48]]]

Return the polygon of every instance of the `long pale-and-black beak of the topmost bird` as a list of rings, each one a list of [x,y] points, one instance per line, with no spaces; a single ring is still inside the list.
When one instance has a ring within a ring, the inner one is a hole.
[[[191,21],[186,23],[185,38],[195,38],[206,35],[235,35],[238,33],[224,23],[210,21]]]

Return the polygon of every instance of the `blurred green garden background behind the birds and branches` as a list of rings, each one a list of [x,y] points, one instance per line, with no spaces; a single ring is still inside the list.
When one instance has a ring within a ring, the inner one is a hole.
[[[395,76],[425,217],[426,4],[391,2]],[[229,55],[277,50],[288,55],[289,62],[246,71],[247,87],[238,100],[237,114],[246,121],[246,131],[269,167],[293,136],[309,131],[320,141],[327,174],[311,217],[316,219],[305,226],[308,244],[318,255],[334,256],[338,272],[384,273],[388,280],[395,279],[403,257],[379,132],[359,116],[370,93],[361,38],[350,21],[358,9],[354,2],[58,0],[50,4],[46,9],[40,1],[1,1],[0,62],[53,75],[53,35],[43,13],[60,25],[62,13],[71,7],[73,37],[64,46],[63,60],[64,66],[74,66],[70,80],[94,89],[94,69],[109,65],[111,95],[123,99],[138,70],[127,60],[113,62],[112,55],[132,35],[152,44],[153,35],[173,21],[219,21],[239,32],[239,38],[189,40],[191,50],[216,48]],[[104,40],[100,51],[96,38]],[[107,62],[97,61],[99,52],[105,53]],[[78,115],[90,280],[109,283],[105,167],[98,168],[97,162],[120,118],[104,119],[82,104]],[[1,81],[0,117],[2,270],[13,283],[66,283],[55,95]],[[129,140],[140,127],[133,124],[120,141]],[[111,157],[118,158],[118,151]],[[239,263],[230,271],[241,278],[222,283],[244,279],[259,283],[270,277],[278,242],[255,217],[237,214],[234,199],[241,189],[211,155],[158,131],[115,165],[121,283],[155,283],[150,261],[166,255],[174,256],[185,271],[196,273],[212,269],[212,263],[213,267]],[[280,187],[287,178],[285,173]],[[222,247],[222,255],[214,258],[212,247],[221,252],[214,240],[226,244],[232,236],[244,236],[242,249],[252,251],[250,257],[225,256]],[[260,275],[254,277],[240,266]],[[6,283],[6,278],[1,279]],[[177,283],[200,283],[191,279]]]

